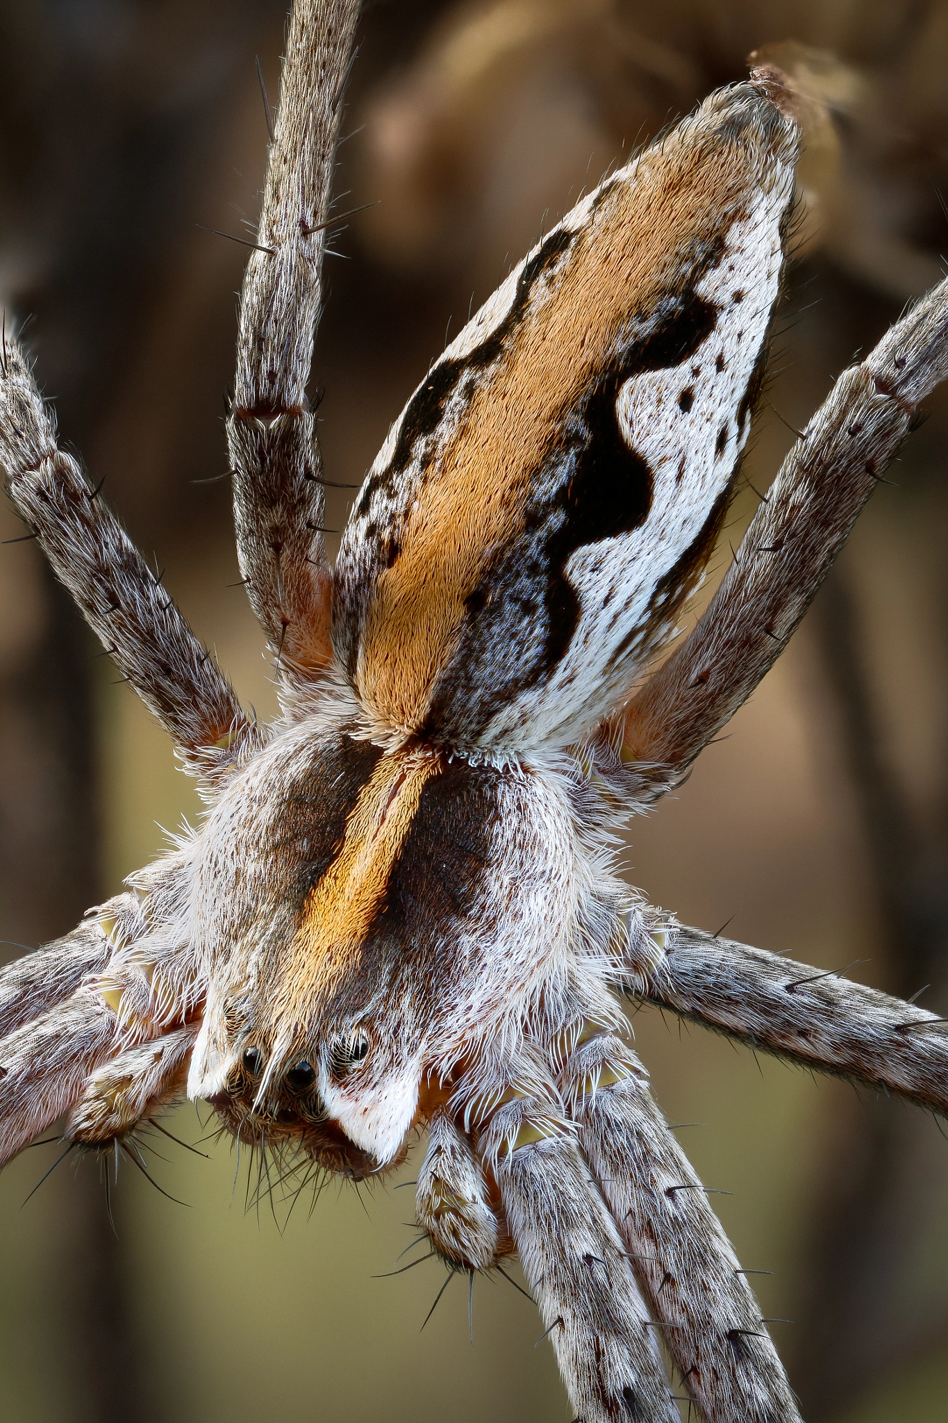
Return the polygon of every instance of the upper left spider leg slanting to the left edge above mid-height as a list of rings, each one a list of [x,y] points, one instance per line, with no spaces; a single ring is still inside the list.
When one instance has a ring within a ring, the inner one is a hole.
[[[233,689],[128,534],[57,444],[23,351],[0,351],[0,468],[17,512],[82,616],[192,768],[213,771],[253,734]]]

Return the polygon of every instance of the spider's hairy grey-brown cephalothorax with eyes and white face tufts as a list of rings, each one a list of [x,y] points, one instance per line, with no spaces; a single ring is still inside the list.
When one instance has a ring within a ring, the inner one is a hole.
[[[247,767],[198,851],[189,1093],[242,1140],[347,1174],[401,1158],[429,1083],[519,1016],[576,914],[549,783],[306,726]]]

